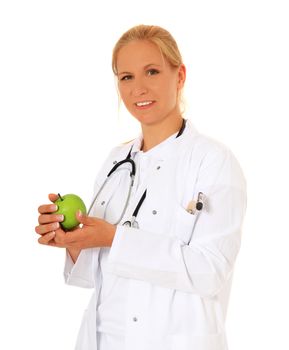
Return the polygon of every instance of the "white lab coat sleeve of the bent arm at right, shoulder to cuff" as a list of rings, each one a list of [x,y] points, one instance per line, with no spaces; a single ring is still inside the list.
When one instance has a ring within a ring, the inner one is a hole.
[[[110,271],[201,296],[217,294],[233,271],[246,209],[246,181],[229,150],[203,161],[195,187],[199,191],[206,195],[200,215],[183,209],[183,221],[169,235],[118,226]]]

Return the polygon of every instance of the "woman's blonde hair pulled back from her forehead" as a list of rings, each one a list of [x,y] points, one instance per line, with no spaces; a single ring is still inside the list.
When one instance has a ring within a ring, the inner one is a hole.
[[[146,40],[155,44],[171,67],[178,68],[183,59],[178,45],[173,36],[164,28],[154,25],[140,24],[127,30],[116,42],[112,52],[112,71],[117,75],[117,55],[119,50],[133,40]],[[120,102],[120,101],[119,101]],[[183,104],[183,96],[180,92],[178,103]]]

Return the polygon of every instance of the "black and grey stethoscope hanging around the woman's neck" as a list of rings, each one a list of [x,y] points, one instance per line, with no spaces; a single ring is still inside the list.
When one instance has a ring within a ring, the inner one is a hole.
[[[184,132],[185,130],[185,127],[186,127],[186,119],[183,118],[183,122],[182,122],[182,126],[176,136],[179,137],[182,135],[182,133]],[[130,195],[131,195],[131,190],[132,190],[132,187],[133,187],[133,184],[134,184],[134,178],[135,178],[135,173],[136,173],[136,165],[135,165],[135,162],[133,159],[131,159],[131,151],[132,151],[132,147],[130,148],[127,156],[125,159],[117,162],[113,167],[112,169],[109,171],[109,173],[107,174],[106,176],[106,179],[104,181],[104,183],[102,184],[102,186],[100,187],[100,189],[98,190],[98,192],[96,193],[89,209],[88,209],[88,215],[91,211],[91,209],[93,208],[94,206],[94,203],[96,202],[97,198],[99,197],[100,193],[102,192],[103,188],[105,187],[105,185],[107,184],[108,180],[110,179],[111,175],[123,164],[125,163],[129,163],[131,165],[131,171],[130,171],[130,186],[129,186],[129,192],[128,192],[128,195],[127,195],[127,199],[126,199],[126,203],[125,203],[125,206],[124,206],[124,209],[121,213],[121,216],[119,218],[119,220],[117,220],[117,222],[115,223],[115,225],[117,225],[121,219],[123,218],[124,216],[124,213],[126,211],[126,208],[128,206],[128,202],[129,202],[129,199],[130,199]],[[127,169],[128,170],[128,169]],[[143,195],[141,196],[141,199],[139,200],[137,206],[135,207],[134,211],[133,211],[133,214],[132,214],[132,217],[131,217],[131,220],[127,220],[123,223],[124,226],[129,226],[129,227],[133,227],[133,228],[139,228],[139,225],[138,225],[138,222],[136,221],[136,217],[138,215],[138,212],[146,198],[146,193],[147,193],[147,190],[144,191]]]

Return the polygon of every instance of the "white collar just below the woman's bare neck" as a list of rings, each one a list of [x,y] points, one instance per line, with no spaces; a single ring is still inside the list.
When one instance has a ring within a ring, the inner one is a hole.
[[[186,127],[182,135],[180,135],[178,138],[177,132],[168,138],[166,138],[164,141],[156,145],[155,147],[151,148],[149,151],[143,152],[141,151],[142,141],[143,141],[143,135],[140,133],[140,135],[133,140],[129,144],[129,149],[132,146],[131,150],[131,156],[134,158],[136,153],[142,152],[143,155],[147,155],[149,157],[154,157],[158,159],[164,159],[168,154],[170,154],[170,150],[172,147],[176,147],[177,145],[183,144],[188,142],[188,140],[192,140],[192,137],[194,137],[198,132],[193,123],[190,119],[187,119]]]

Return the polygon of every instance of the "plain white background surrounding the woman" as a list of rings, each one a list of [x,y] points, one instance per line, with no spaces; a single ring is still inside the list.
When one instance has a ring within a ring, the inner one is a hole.
[[[73,349],[92,291],[64,285],[64,251],[37,243],[37,208],[50,192],[89,204],[109,150],[138,135],[133,117],[118,112],[110,65],[116,40],[141,23],[175,37],[187,67],[185,116],[229,146],[247,178],[230,350],[288,349],[285,5],[1,1],[1,349]]]

